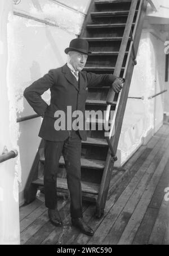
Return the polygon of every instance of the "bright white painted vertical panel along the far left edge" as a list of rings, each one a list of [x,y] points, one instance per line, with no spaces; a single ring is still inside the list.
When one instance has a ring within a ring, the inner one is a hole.
[[[0,1],[0,154],[6,145],[8,151],[17,146],[15,95],[10,80],[12,44],[12,2]],[[7,37],[11,40],[7,41]],[[0,244],[19,244],[19,156],[0,164]]]

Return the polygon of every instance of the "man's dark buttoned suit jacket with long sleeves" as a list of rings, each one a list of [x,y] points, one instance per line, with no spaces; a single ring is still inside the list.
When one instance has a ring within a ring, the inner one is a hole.
[[[79,72],[79,81],[75,79],[70,69],[65,64],[63,67],[51,69],[48,74],[32,83],[24,91],[24,96],[34,111],[44,116],[39,136],[46,140],[63,141],[69,136],[68,130],[55,130],[54,117],[56,111],[64,111],[67,120],[67,106],[82,111],[84,116],[88,86],[112,85],[115,80],[113,74],[95,74],[85,71]],[[42,98],[43,92],[50,88],[51,102],[48,105]],[[73,121],[73,118],[72,118]],[[85,120],[84,120],[85,121]],[[65,123],[66,126],[66,123]],[[66,128],[66,127],[65,127]],[[86,131],[79,130],[82,140],[86,140]]]

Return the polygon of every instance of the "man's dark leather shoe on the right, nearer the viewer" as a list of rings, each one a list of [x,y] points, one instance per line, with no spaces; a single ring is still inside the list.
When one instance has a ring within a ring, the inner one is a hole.
[[[91,227],[87,226],[83,218],[72,218],[72,226],[78,227],[85,235],[94,235],[94,231],[91,229]]]

